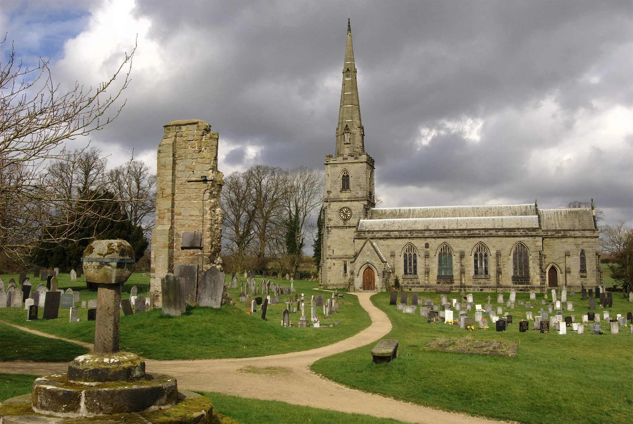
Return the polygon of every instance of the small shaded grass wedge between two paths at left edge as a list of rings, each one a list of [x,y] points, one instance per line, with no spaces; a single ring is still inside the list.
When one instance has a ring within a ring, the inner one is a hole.
[[[0,340],[0,361],[72,361],[88,352],[77,344],[30,334],[2,323]]]

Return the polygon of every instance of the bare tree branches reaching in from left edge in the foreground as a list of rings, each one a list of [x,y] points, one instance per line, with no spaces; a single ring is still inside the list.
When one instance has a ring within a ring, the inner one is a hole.
[[[72,225],[65,232],[42,228],[63,221],[69,203],[85,206],[91,199],[69,196],[72,185],[63,187],[69,177],[62,175],[62,166],[57,178],[53,168],[50,173],[46,168],[59,159],[75,163],[70,168],[79,171],[82,151],[66,153],[64,144],[104,128],[119,115],[133,55],[134,50],[125,54],[113,76],[96,88],[75,83],[68,91],[54,84],[45,59],[28,68],[16,63],[11,49],[8,60],[0,62],[0,254],[23,264],[40,242],[73,237]],[[89,209],[75,208],[77,213]],[[53,240],[46,239],[50,234]]]

